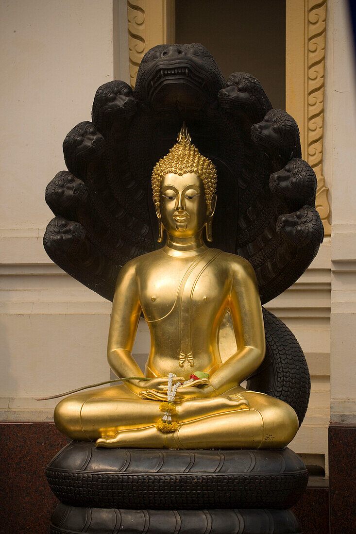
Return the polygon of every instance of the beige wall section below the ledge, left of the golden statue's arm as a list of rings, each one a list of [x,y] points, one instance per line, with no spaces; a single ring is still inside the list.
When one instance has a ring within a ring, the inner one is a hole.
[[[16,313],[0,320],[2,396],[55,395],[110,379],[109,315]]]

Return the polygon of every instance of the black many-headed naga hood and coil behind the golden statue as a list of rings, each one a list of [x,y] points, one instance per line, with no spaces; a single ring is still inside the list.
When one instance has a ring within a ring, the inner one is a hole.
[[[194,144],[218,169],[212,246],[244,256],[256,270],[262,304],[307,269],[323,239],[316,178],[301,159],[292,117],[273,109],[256,78],[227,82],[200,44],[147,52],[134,91],[121,81],[96,92],[92,122],[63,143],[68,171],[49,183],[55,218],[44,234],[51,259],[112,300],[123,264],[157,245],[151,172],[187,123]],[[304,418],[310,389],[300,346],[264,310],[266,358],[249,389],[281,398]]]

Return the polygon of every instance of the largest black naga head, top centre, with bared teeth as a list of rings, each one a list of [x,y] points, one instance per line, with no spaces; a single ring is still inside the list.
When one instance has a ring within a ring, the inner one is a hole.
[[[202,44],[160,44],[144,55],[134,97],[154,112],[204,109],[225,80]]]

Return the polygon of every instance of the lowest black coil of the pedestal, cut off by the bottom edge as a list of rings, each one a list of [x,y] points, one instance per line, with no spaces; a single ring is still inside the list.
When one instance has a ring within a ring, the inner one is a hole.
[[[291,510],[125,510],[59,504],[51,534],[301,534]]]

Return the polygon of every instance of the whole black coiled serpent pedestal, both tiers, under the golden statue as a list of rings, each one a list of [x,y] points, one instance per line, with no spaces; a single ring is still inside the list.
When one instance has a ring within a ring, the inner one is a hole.
[[[54,534],[300,534],[289,508],[307,470],[289,449],[96,449],[72,442],[46,470]]]

